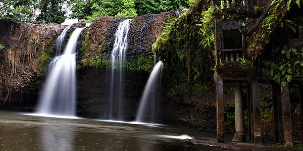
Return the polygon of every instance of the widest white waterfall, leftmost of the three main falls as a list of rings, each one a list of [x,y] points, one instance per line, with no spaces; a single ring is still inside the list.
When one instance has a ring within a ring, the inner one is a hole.
[[[56,56],[49,64],[49,73],[39,97],[38,114],[76,115],[76,49],[78,38],[83,29],[74,30],[65,47],[64,54]],[[58,41],[60,42],[60,40]]]

